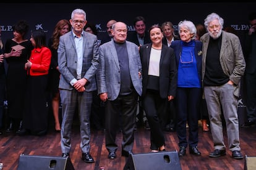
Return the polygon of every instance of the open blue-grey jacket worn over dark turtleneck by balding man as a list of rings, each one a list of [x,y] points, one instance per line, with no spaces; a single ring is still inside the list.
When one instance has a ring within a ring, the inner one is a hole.
[[[126,41],[129,55],[129,71],[135,91],[142,94],[142,76],[139,78],[139,71],[142,72],[138,46]],[[98,94],[108,93],[108,100],[115,100],[121,89],[121,72],[116,53],[114,41],[106,42],[99,48],[100,66],[97,73]]]

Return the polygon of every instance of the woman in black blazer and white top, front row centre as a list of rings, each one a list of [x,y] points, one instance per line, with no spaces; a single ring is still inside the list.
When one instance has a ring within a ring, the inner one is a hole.
[[[177,86],[177,68],[172,48],[163,45],[161,26],[149,29],[150,44],[140,47],[142,62],[142,105],[150,125],[150,149],[164,151],[164,135],[161,128],[162,113],[166,113],[168,100],[173,100]]]

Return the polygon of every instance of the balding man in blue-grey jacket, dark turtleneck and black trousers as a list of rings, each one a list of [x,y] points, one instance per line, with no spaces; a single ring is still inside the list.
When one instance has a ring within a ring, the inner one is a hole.
[[[112,26],[113,40],[99,48],[100,66],[97,73],[98,94],[106,102],[106,148],[108,158],[116,158],[116,132],[119,113],[122,121],[122,156],[129,156],[134,145],[137,100],[142,94],[142,66],[138,46],[126,41],[127,25]]]

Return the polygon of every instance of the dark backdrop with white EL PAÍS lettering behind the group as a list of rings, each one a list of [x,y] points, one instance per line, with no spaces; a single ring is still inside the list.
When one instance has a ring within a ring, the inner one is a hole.
[[[12,25],[20,19],[30,23],[30,30],[44,30],[47,39],[51,37],[54,26],[61,19],[70,19],[72,10],[85,10],[87,20],[94,23],[98,30],[98,39],[104,41],[107,36],[106,22],[114,19],[127,24],[128,31],[134,31],[134,18],[145,17],[147,28],[151,25],[170,21],[177,31],[181,20],[191,20],[195,24],[204,22],[211,12],[224,19],[224,26],[233,26],[244,44],[244,35],[249,30],[248,15],[256,12],[256,2],[180,2],[180,3],[0,3],[0,27],[2,39],[12,38]],[[27,35],[30,38],[30,34]],[[243,82],[242,82],[243,83]],[[244,88],[239,99],[239,120],[246,118]]]

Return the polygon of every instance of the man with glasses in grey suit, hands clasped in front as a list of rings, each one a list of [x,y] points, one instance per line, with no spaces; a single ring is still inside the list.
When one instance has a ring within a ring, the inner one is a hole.
[[[87,23],[84,10],[73,10],[70,23],[72,31],[60,37],[58,48],[58,64],[61,72],[59,88],[62,103],[61,150],[63,157],[69,156],[72,121],[77,107],[82,160],[93,163],[89,144],[90,113],[92,92],[96,90],[98,42],[94,34],[83,31]]]

